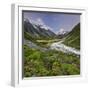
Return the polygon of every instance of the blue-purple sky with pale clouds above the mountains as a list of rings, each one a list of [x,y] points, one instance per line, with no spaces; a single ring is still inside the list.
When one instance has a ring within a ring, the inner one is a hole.
[[[80,14],[24,11],[24,18],[45,25],[55,33],[70,31],[80,22]]]

